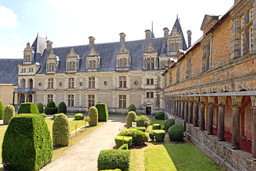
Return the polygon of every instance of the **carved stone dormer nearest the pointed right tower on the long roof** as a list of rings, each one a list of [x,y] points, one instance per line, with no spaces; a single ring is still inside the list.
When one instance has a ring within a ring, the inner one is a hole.
[[[143,53],[143,70],[158,69],[158,53],[157,48],[154,48],[152,42],[149,42],[148,47]]]

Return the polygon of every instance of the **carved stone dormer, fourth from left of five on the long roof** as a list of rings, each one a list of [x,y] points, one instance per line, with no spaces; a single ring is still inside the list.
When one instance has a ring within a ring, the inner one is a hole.
[[[130,50],[128,50],[125,44],[122,44],[120,50],[116,54],[116,71],[125,72],[130,69]]]

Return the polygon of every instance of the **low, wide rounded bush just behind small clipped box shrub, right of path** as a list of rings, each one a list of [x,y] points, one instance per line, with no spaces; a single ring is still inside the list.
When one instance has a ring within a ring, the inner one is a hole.
[[[117,135],[132,137],[132,144],[134,145],[142,145],[148,142],[148,134],[137,129],[125,129]]]

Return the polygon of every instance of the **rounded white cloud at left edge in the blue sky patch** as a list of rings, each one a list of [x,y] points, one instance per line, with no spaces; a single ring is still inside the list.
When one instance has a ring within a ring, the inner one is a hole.
[[[0,28],[8,28],[18,24],[16,18],[18,15],[14,14],[12,10],[5,6],[0,6]]]

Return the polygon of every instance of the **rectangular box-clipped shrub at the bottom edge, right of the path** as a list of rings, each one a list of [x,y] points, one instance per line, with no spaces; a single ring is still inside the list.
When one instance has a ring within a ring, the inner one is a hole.
[[[100,151],[98,157],[98,170],[121,169],[130,171],[131,152],[130,150],[110,149]]]

